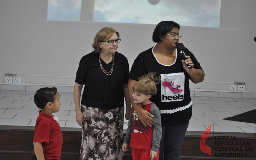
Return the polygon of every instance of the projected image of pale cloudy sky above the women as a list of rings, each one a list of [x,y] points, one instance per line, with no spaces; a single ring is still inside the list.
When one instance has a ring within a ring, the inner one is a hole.
[[[220,11],[221,0],[48,0],[48,20],[57,21],[219,27]]]

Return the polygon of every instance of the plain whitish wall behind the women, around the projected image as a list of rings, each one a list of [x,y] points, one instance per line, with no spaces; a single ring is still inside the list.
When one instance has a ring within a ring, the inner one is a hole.
[[[222,0],[220,28],[181,26],[183,43],[198,59],[208,83],[191,88],[228,89],[246,83],[256,93],[256,0]],[[155,45],[156,25],[46,21],[47,0],[0,0],[0,82],[5,73],[22,83],[73,85],[80,58],[90,53],[95,34],[111,26],[120,32],[118,52],[130,67],[136,56]]]

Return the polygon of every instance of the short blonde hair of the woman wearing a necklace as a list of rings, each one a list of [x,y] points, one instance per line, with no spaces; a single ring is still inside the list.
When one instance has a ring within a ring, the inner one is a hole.
[[[94,37],[94,41],[92,44],[92,48],[94,49],[94,53],[101,53],[101,48],[99,46],[99,41],[107,41],[114,33],[116,33],[118,39],[120,38],[119,33],[113,29],[112,27],[104,27],[97,32]]]

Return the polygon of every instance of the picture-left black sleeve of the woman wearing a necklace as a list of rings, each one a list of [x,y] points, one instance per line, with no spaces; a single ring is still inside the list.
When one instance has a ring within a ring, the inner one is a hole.
[[[79,63],[75,82],[77,82],[78,84],[84,85],[86,75],[87,75],[86,56],[83,56]]]

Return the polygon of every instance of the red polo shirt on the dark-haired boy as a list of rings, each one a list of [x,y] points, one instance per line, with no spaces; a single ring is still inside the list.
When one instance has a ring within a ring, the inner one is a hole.
[[[53,116],[39,111],[33,142],[42,143],[45,160],[60,160],[62,141],[62,133],[58,122],[54,120]]]

